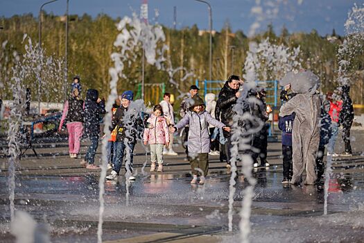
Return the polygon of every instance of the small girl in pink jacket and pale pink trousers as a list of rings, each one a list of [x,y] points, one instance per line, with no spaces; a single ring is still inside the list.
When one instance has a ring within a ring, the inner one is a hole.
[[[155,160],[158,161],[158,172],[163,172],[163,147],[169,145],[169,132],[166,118],[163,117],[162,106],[155,106],[153,114],[147,119],[144,129],[144,145],[150,145],[150,171],[155,171]]]

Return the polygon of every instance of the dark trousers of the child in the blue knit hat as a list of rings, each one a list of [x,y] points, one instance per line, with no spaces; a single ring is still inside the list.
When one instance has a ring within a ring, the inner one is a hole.
[[[118,141],[118,142],[114,142],[114,146],[116,146],[116,158],[114,160],[114,171],[116,171],[117,174],[119,174],[120,169],[121,169],[121,165],[123,165],[123,158],[124,155],[125,157],[125,164],[126,161],[129,161],[129,169],[130,172],[133,172],[132,169],[132,159],[134,158],[133,156],[133,152],[134,152],[134,147],[135,147],[135,143],[128,143],[124,144],[123,141]],[[126,153],[125,153],[125,149],[127,149]],[[128,156],[130,156],[130,158],[128,158]],[[125,165],[125,171],[127,171],[127,167]]]

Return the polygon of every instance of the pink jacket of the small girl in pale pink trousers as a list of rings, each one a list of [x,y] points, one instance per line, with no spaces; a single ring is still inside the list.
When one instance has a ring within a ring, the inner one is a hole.
[[[151,115],[148,125],[144,129],[143,140],[148,144],[166,144],[169,142],[169,132],[165,117],[155,117]]]

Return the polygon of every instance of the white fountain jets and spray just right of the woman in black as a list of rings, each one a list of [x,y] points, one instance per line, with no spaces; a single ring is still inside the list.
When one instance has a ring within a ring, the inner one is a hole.
[[[282,78],[286,72],[292,69],[301,67],[298,58],[300,54],[300,47],[292,51],[283,44],[277,46],[271,44],[269,39],[263,40],[260,44],[250,42],[250,49],[248,51],[247,59],[245,60],[244,70],[245,83],[243,90],[240,90],[241,97],[239,97],[234,111],[234,125],[232,126],[234,133],[232,134],[232,175],[230,177],[229,185],[229,231],[232,231],[232,217],[233,217],[233,203],[236,184],[236,162],[241,162],[243,167],[243,175],[248,182],[248,187],[245,188],[243,194],[242,208],[240,211],[241,221],[239,224],[240,237],[242,242],[248,242],[250,234],[250,213],[252,199],[254,196],[254,185],[256,180],[252,176],[253,159],[247,151],[255,151],[256,148],[252,146],[252,137],[255,133],[259,133],[261,128],[265,125],[259,117],[254,117],[250,113],[252,106],[262,106],[263,103],[254,97],[248,97],[248,91],[257,88],[256,82],[258,78],[263,80],[277,80]],[[248,124],[254,124],[252,127],[247,127]]]

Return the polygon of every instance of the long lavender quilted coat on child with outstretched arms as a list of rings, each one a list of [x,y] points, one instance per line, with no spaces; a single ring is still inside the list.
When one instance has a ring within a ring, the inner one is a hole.
[[[211,117],[206,110],[196,113],[187,112],[186,115],[175,125],[175,128],[181,129],[189,125],[188,149],[189,153],[209,153],[210,136],[208,124],[217,128],[223,128],[225,124]]]

